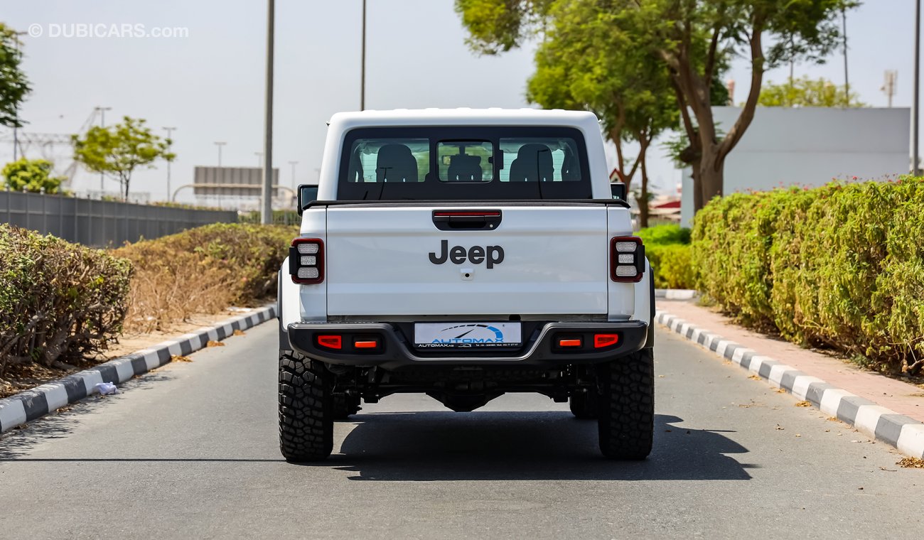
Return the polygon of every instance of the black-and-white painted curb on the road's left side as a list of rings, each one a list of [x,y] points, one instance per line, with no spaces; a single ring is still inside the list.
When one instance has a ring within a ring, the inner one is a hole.
[[[209,341],[221,341],[234,334],[234,330],[247,330],[276,318],[276,306],[255,309],[248,315],[227,318],[197,333],[179,336],[150,348],[121,356],[99,366],[93,366],[65,378],[46,382],[0,400],[0,433],[41,418],[68,403],[78,402],[96,392],[100,382],[119,384],[136,375],[170,363],[173,355],[190,354],[205,347]]]

